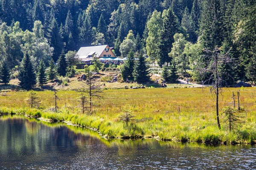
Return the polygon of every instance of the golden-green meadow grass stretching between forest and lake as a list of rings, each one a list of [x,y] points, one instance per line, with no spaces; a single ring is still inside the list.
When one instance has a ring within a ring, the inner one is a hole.
[[[159,139],[191,142],[245,142],[256,140],[256,89],[226,88],[220,99],[220,110],[233,105],[232,91],[240,90],[240,105],[245,109],[244,123],[237,131],[229,132],[224,123],[218,130],[215,116],[215,101],[208,88],[148,88],[105,90],[104,99],[95,99],[93,114],[82,115],[75,91],[59,91],[59,113],[52,113],[54,99],[52,91],[40,91],[39,113],[43,118],[70,121],[73,124],[99,129],[102,135],[159,136]],[[2,113],[26,113],[35,115],[24,103],[26,92],[0,94]],[[237,102],[236,102],[237,104]],[[126,127],[118,116],[122,108],[128,107],[136,115]],[[47,111],[48,110],[48,111]]]

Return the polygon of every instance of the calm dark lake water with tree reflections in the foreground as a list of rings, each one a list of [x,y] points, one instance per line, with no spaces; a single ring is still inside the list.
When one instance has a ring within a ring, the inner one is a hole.
[[[256,146],[102,139],[22,116],[0,116],[0,169],[256,169]]]

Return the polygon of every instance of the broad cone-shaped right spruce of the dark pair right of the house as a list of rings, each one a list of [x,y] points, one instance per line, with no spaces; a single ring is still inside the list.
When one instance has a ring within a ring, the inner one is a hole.
[[[149,71],[148,65],[146,64],[145,57],[142,54],[139,54],[139,60],[137,61],[136,65],[134,66],[133,77],[136,82],[148,82]]]

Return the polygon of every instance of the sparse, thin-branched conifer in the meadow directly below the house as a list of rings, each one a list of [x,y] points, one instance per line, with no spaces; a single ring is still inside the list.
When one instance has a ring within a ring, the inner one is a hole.
[[[92,111],[93,107],[93,98],[102,99],[102,93],[103,89],[102,84],[99,83],[96,79],[93,78],[93,75],[88,72],[87,73],[87,79],[85,81],[82,81],[83,84],[81,85],[81,88],[75,89],[76,91],[79,91],[80,93],[88,94],[89,98],[89,105],[90,105],[90,113]]]

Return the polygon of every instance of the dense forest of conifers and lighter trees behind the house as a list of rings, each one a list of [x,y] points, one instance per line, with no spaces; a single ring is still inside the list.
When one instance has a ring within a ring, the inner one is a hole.
[[[27,60],[38,70],[108,44],[117,56],[138,52],[201,81],[210,75],[199,69],[211,65],[206,51],[217,46],[229,58],[218,66],[225,85],[255,82],[255,23],[255,0],[0,0],[0,68]]]

